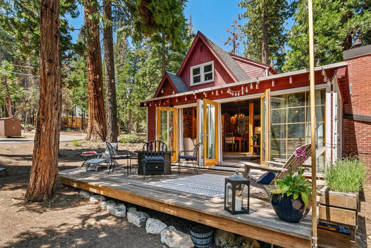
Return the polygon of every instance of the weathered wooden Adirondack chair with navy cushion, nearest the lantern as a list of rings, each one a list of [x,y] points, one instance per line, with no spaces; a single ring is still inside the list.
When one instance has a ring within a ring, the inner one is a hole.
[[[305,151],[308,156],[311,155],[311,144],[305,144]],[[298,148],[299,149],[299,148]],[[264,193],[265,195],[269,196],[269,192],[267,192],[266,187],[268,185],[272,185],[274,183],[274,180],[283,178],[289,174],[289,170],[297,171],[299,167],[302,167],[303,162],[298,163],[298,159],[295,158],[296,153],[295,151],[292,153],[292,155],[289,157],[289,159],[285,162],[275,162],[275,161],[266,161],[268,166],[263,166],[259,164],[254,164],[247,161],[240,161],[240,163],[245,165],[245,173],[244,177],[246,179],[250,180],[250,185],[255,187],[260,192]],[[277,173],[272,180],[270,180],[269,183],[258,183],[256,177],[249,176],[251,169],[257,169],[264,172],[273,172]]]

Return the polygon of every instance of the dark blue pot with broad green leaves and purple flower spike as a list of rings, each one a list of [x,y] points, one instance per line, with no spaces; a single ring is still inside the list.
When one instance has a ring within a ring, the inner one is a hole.
[[[298,143],[296,159],[305,161],[305,146],[301,138]],[[302,168],[297,174],[289,170],[288,176],[276,179],[275,182],[277,184],[269,189],[274,211],[283,221],[299,223],[311,209],[311,182],[303,176]]]

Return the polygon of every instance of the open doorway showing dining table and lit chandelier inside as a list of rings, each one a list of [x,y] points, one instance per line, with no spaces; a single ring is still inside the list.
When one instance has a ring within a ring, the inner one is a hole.
[[[221,104],[223,165],[260,162],[260,98]]]

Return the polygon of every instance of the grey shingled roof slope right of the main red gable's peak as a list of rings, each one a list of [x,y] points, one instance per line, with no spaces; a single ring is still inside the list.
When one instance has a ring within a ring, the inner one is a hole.
[[[201,32],[200,32],[201,33]],[[243,69],[237,64],[237,62],[227,53],[223,48],[218,46],[215,42],[210,40],[206,35],[201,33],[201,35],[206,39],[207,43],[214,49],[214,51],[219,55],[222,61],[226,63],[227,67],[232,71],[233,75],[239,81],[249,80],[250,77],[243,71]]]

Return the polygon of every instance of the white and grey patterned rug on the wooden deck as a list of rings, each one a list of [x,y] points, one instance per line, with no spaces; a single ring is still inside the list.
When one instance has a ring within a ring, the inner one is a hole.
[[[210,196],[214,198],[223,198],[224,179],[226,177],[227,176],[212,174],[199,174],[196,176],[146,183],[146,185],[173,189],[197,195]]]

